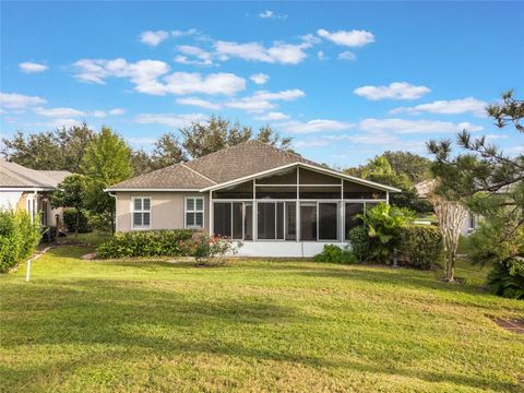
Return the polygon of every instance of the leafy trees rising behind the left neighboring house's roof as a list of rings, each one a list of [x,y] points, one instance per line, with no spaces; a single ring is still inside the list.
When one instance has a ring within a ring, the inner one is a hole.
[[[1,154],[32,169],[78,172],[92,138],[93,131],[86,123],[27,136],[17,131],[12,139],[2,140]]]

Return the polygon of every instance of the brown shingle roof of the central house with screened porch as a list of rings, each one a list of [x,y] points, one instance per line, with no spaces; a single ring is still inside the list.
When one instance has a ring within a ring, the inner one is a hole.
[[[321,165],[259,141],[248,141],[184,164],[111,186],[119,189],[202,189],[294,163]]]

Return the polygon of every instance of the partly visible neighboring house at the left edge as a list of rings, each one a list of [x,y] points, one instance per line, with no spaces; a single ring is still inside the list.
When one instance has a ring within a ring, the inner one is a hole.
[[[22,209],[43,226],[61,226],[62,209],[51,209],[47,195],[71,172],[35,170],[0,158],[0,207]],[[58,222],[57,222],[58,218]]]

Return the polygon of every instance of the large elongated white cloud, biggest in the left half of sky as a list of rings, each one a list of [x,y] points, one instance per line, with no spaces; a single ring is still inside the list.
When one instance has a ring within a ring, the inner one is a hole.
[[[169,72],[169,66],[157,60],[141,60],[129,63],[126,59],[115,60],[79,60],[74,64],[79,69],[76,78],[84,82],[105,83],[107,78],[128,78],[135,84],[134,90],[152,95],[184,94],[223,94],[234,95],[246,90],[246,80],[231,73],[212,73],[206,76],[200,73]],[[158,78],[163,76],[163,81]]]

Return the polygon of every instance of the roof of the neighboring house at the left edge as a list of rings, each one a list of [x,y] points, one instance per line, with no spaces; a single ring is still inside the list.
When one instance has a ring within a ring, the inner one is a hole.
[[[56,188],[71,172],[67,170],[35,170],[0,159],[0,188]]]

